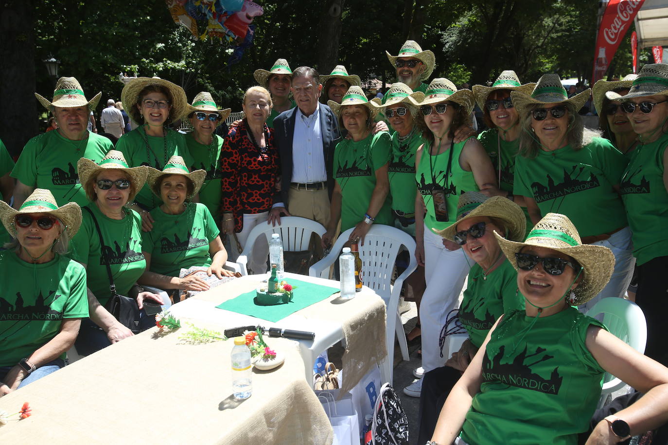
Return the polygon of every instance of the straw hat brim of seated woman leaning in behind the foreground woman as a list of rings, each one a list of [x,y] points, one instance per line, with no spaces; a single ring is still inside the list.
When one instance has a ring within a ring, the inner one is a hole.
[[[460,222],[481,216],[494,217],[504,221],[508,229],[508,240],[524,240],[524,235],[526,234],[526,217],[524,216],[524,211],[522,211],[522,207],[503,196],[492,196],[486,199],[478,207],[467,213],[466,216],[436,233],[443,238],[453,241],[457,233],[457,225]]]

